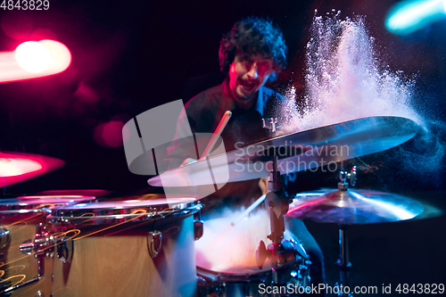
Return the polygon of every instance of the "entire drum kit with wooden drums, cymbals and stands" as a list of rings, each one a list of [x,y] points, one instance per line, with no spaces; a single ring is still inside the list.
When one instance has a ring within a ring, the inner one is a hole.
[[[348,227],[412,219],[424,211],[419,202],[400,195],[351,190],[356,169],[341,171],[335,191],[293,197],[285,194],[280,179],[402,144],[417,134],[414,121],[373,117],[285,136],[277,136],[277,119],[264,126],[270,137],[250,150],[209,156],[148,180],[151,186],[207,186],[203,180],[209,179],[202,175],[210,163],[213,175],[223,174],[227,183],[269,177],[260,219],[244,211],[243,219],[203,222],[202,203],[181,195],[113,197],[102,190],[78,190],[0,200],[0,296],[271,295],[260,293],[260,285],[305,290],[311,259],[299,238],[285,230],[285,217],[339,225],[340,284],[348,285]],[[2,174],[0,166],[4,182]],[[253,235],[245,222],[254,218],[269,230],[257,248],[245,249],[237,241]],[[206,226],[217,231],[206,233]],[[237,258],[225,260],[225,252]]]

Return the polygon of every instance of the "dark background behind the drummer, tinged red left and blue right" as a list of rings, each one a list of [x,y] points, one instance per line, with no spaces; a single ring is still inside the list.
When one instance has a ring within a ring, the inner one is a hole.
[[[244,16],[268,16],[283,30],[289,67],[270,87],[296,87],[304,95],[304,47],[314,10],[341,10],[341,17],[366,16],[376,38],[377,57],[391,70],[416,78],[413,104],[431,126],[434,137],[416,136],[386,153],[361,162],[375,166],[359,174],[359,185],[406,194],[425,202],[425,219],[351,227],[352,285],[446,283],[444,154],[431,152],[444,143],[446,115],[446,21],[406,37],[384,28],[397,1],[87,1],[51,0],[47,11],[0,11],[0,51],[21,42],[52,38],[70,48],[72,62],[64,72],[46,78],[0,84],[0,151],[37,153],[66,161],[62,169],[3,188],[13,197],[44,190],[107,189],[128,194],[148,188],[148,177],[128,171],[121,144],[104,145],[95,129],[111,120],[127,122],[151,108],[194,95],[191,78],[211,75],[195,86],[219,83],[219,40]],[[120,130],[111,130],[111,132]],[[112,134],[112,133],[111,133]],[[418,138],[417,138],[418,137]],[[418,145],[423,143],[424,145]],[[429,148],[430,147],[430,148]],[[401,152],[424,155],[434,166],[417,167]],[[435,158],[433,160],[433,158]],[[405,166],[410,163],[410,166]],[[336,177],[310,176],[290,192],[334,187]],[[362,180],[361,180],[362,177]],[[299,180],[299,178],[298,178]],[[303,186],[302,186],[303,184]],[[149,191],[159,191],[150,189]],[[431,205],[431,206],[428,206]],[[435,210],[438,210],[435,212]],[[437,213],[437,215],[434,215]],[[326,255],[327,280],[337,279],[335,225],[308,222]]]

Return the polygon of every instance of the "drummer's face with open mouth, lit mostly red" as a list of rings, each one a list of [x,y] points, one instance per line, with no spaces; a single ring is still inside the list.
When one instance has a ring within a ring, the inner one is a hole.
[[[243,105],[245,101],[250,101],[252,95],[267,82],[272,73],[271,59],[253,56],[249,60],[243,60],[236,55],[229,69],[229,89],[235,103]]]

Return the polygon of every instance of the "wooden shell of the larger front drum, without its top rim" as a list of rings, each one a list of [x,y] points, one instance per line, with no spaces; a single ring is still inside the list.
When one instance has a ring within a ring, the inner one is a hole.
[[[61,223],[53,224],[60,226]],[[80,234],[72,240],[71,262],[54,259],[54,297],[194,295],[192,213],[157,219],[156,223],[76,227]],[[162,242],[161,252],[152,258],[147,235],[154,230],[162,232]]]

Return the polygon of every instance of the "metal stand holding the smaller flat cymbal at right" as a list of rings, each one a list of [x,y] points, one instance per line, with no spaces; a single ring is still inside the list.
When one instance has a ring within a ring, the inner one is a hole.
[[[341,181],[337,187],[339,191],[347,191],[349,186],[356,185],[356,166],[353,166],[351,172],[341,171],[339,178]],[[349,241],[347,239],[347,229],[349,225],[339,225],[339,259],[336,265],[340,272],[340,285],[342,288],[349,285],[349,271],[351,269],[351,262],[349,259]],[[339,285],[339,284],[337,284]],[[339,290],[338,296],[353,296],[351,293],[345,293],[344,289]]]

